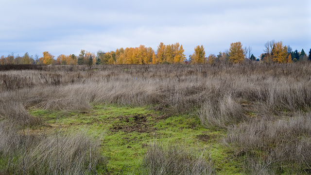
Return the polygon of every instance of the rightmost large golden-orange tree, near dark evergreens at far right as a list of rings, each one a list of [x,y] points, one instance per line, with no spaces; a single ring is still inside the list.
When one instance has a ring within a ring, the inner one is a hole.
[[[279,41],[273,45],[272,59],[276,63],[287,63],[287,46],[283,46],[282,41]]]

